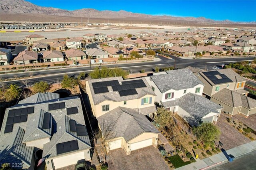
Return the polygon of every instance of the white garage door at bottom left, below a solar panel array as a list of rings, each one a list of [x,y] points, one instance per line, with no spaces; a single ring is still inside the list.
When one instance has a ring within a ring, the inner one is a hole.
[[[53,159],[53,163],[54,163],[55,169],[57,169],[57,168],[62,168],[64,166],[77,164],[77,161],[81,159],[84,159],[84,152],[78,152],[75,154],[62,156],[60,158],[55,158]]]

